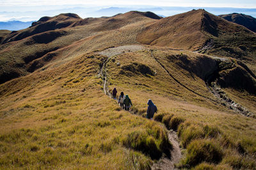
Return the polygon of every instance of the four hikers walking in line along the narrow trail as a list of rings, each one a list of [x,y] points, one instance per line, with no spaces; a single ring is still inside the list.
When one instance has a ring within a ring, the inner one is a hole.
[[[116,88],[114,88],[113,91],[112,91],[113,99],[116,99],[116,94],[117,94],[117,90],[116,90]],[[118,104],[120,104],[120,107],[122,109],[125,109],[125,110],[129,111],[129,108],[131,108],[131,106],[132,106],[132,101],[131,101],[131,99],[129,98],[128,95],[124,95],[124,92],[121,92],[120,96],[118,98]],[[147,104],[148,104],[147,118],[152,119],[154,117],[154,113],[157,112],[157,107],[152,102],[151,99],[148,99]]]

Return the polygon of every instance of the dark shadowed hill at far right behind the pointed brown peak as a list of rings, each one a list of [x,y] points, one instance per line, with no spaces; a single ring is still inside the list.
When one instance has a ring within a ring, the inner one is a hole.
[[[219,16],[230,22],[243,25],[244,27],[250,29],[250,31],[256,32],[256,18],[253,18],[250,15],[244,15],[243,13],[230,13]]]

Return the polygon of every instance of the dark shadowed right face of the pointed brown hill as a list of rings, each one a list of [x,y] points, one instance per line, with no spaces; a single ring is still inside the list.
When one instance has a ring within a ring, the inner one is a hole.
[[[211,13],[203,12],[202,29],[209,36],[202,47],[207,53],[246,60],[256,59],[256,34]]]

